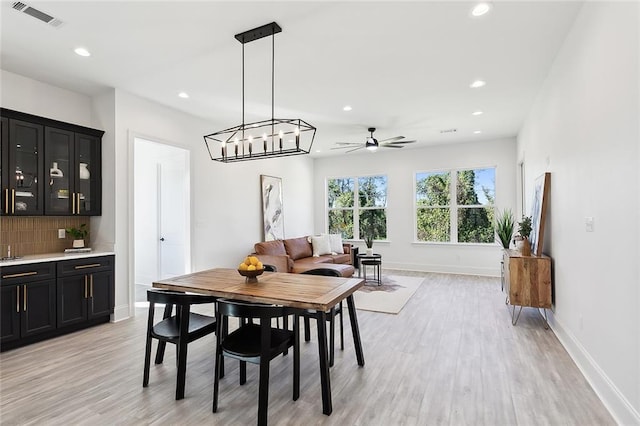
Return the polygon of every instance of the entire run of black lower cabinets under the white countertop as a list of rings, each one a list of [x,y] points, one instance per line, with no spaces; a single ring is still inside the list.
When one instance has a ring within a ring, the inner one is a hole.
[[[114,259],[0,267],[0,350],[108,322],[115,301]]]

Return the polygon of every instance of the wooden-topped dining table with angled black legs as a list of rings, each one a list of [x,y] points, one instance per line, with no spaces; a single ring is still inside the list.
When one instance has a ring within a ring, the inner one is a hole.
[[[322,412],[330,415],[331,377],[329,373],[326,319],[327,311],[346,299],[356,361],[364,366],[364,353],[358,329],[353,293],[364,285],[361,278],[265,272],[257,282],[248,282],[235,269],[214,268],[153,282],[153,287],[174,291],[209,294],[225,299],[268,303],[316,313],[318,358],[322,390]]]

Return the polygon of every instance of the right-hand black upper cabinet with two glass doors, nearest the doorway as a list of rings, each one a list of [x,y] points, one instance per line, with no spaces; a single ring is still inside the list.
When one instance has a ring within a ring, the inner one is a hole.
[[[45,214],[99,215],[100,141],[53,127],[45,128]]]

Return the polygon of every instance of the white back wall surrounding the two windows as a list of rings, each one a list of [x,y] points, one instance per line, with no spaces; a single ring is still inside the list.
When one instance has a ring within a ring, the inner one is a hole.
[[[502,139],[317,159],[314,231],[326,232],[327,178],[384,174],[388,178],[388,242],[374,244],[386,268],[499,276],[499,245],[414,242],[414,179],[418,171],[496,167],[496,205],[515,211],[515,158],[515,139]]]

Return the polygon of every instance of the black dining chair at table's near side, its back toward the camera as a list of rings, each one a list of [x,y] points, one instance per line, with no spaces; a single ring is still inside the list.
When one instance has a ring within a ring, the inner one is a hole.
[[[273,318],[290,315],[292,310],[283,306],[264,305],[235,300],[218,300],[216,320],[218,332],[216,339],[216,365],[213,381],[213,412],[218,411],[218,388],[222,377],[223,357],[240,361],[240,384],[247,381],[246,363],[260,366],[258,386],[258,425],[267,424],[269,405],[269,363],[272,359],[293,347],[293,400],[300,396],[300,335],[298,316],[293,315],[293,330],[283,330],[271,325]],[[224,333],[223,324],[228,318],[246,318],[260,320],[241,323],[239,328],[229,334]]]

